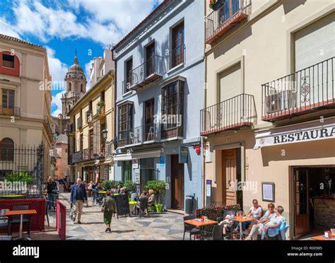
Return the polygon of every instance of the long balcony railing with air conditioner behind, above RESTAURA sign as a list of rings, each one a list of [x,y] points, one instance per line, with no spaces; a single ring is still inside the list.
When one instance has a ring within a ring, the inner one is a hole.
[[[335,57],[262,85],[264,121],[335,107]]]

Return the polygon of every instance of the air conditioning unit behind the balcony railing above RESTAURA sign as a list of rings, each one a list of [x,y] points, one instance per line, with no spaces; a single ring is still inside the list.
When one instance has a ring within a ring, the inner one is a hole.
[[[297,93],[294,90],[274,92],[265,97],[266,114],[281,112],[297,107]]]

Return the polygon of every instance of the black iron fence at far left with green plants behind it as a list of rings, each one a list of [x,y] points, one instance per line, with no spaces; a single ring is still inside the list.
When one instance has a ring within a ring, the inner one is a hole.
[[[42,197],[44,146],[0,148],[0,196]]]

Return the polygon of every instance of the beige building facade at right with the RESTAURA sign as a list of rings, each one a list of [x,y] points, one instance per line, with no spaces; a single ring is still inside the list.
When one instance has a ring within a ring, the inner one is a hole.
[[[289,238],[330,228],[318,207],[335,204],[334,1],[222,3],[206,4],[207,204],[281,205]]]

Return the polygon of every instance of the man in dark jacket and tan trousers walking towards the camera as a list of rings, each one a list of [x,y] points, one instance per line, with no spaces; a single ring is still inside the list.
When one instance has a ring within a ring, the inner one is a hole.
[[[81,223],[81,214],[83,213],[83,204],[87,202],[87,194],[85,186],[81,182],[81,178],[77,179],[76,185],[71,189],[71,204],[76,206],[73,221],[76,221],[78,215],[78,223]]]

